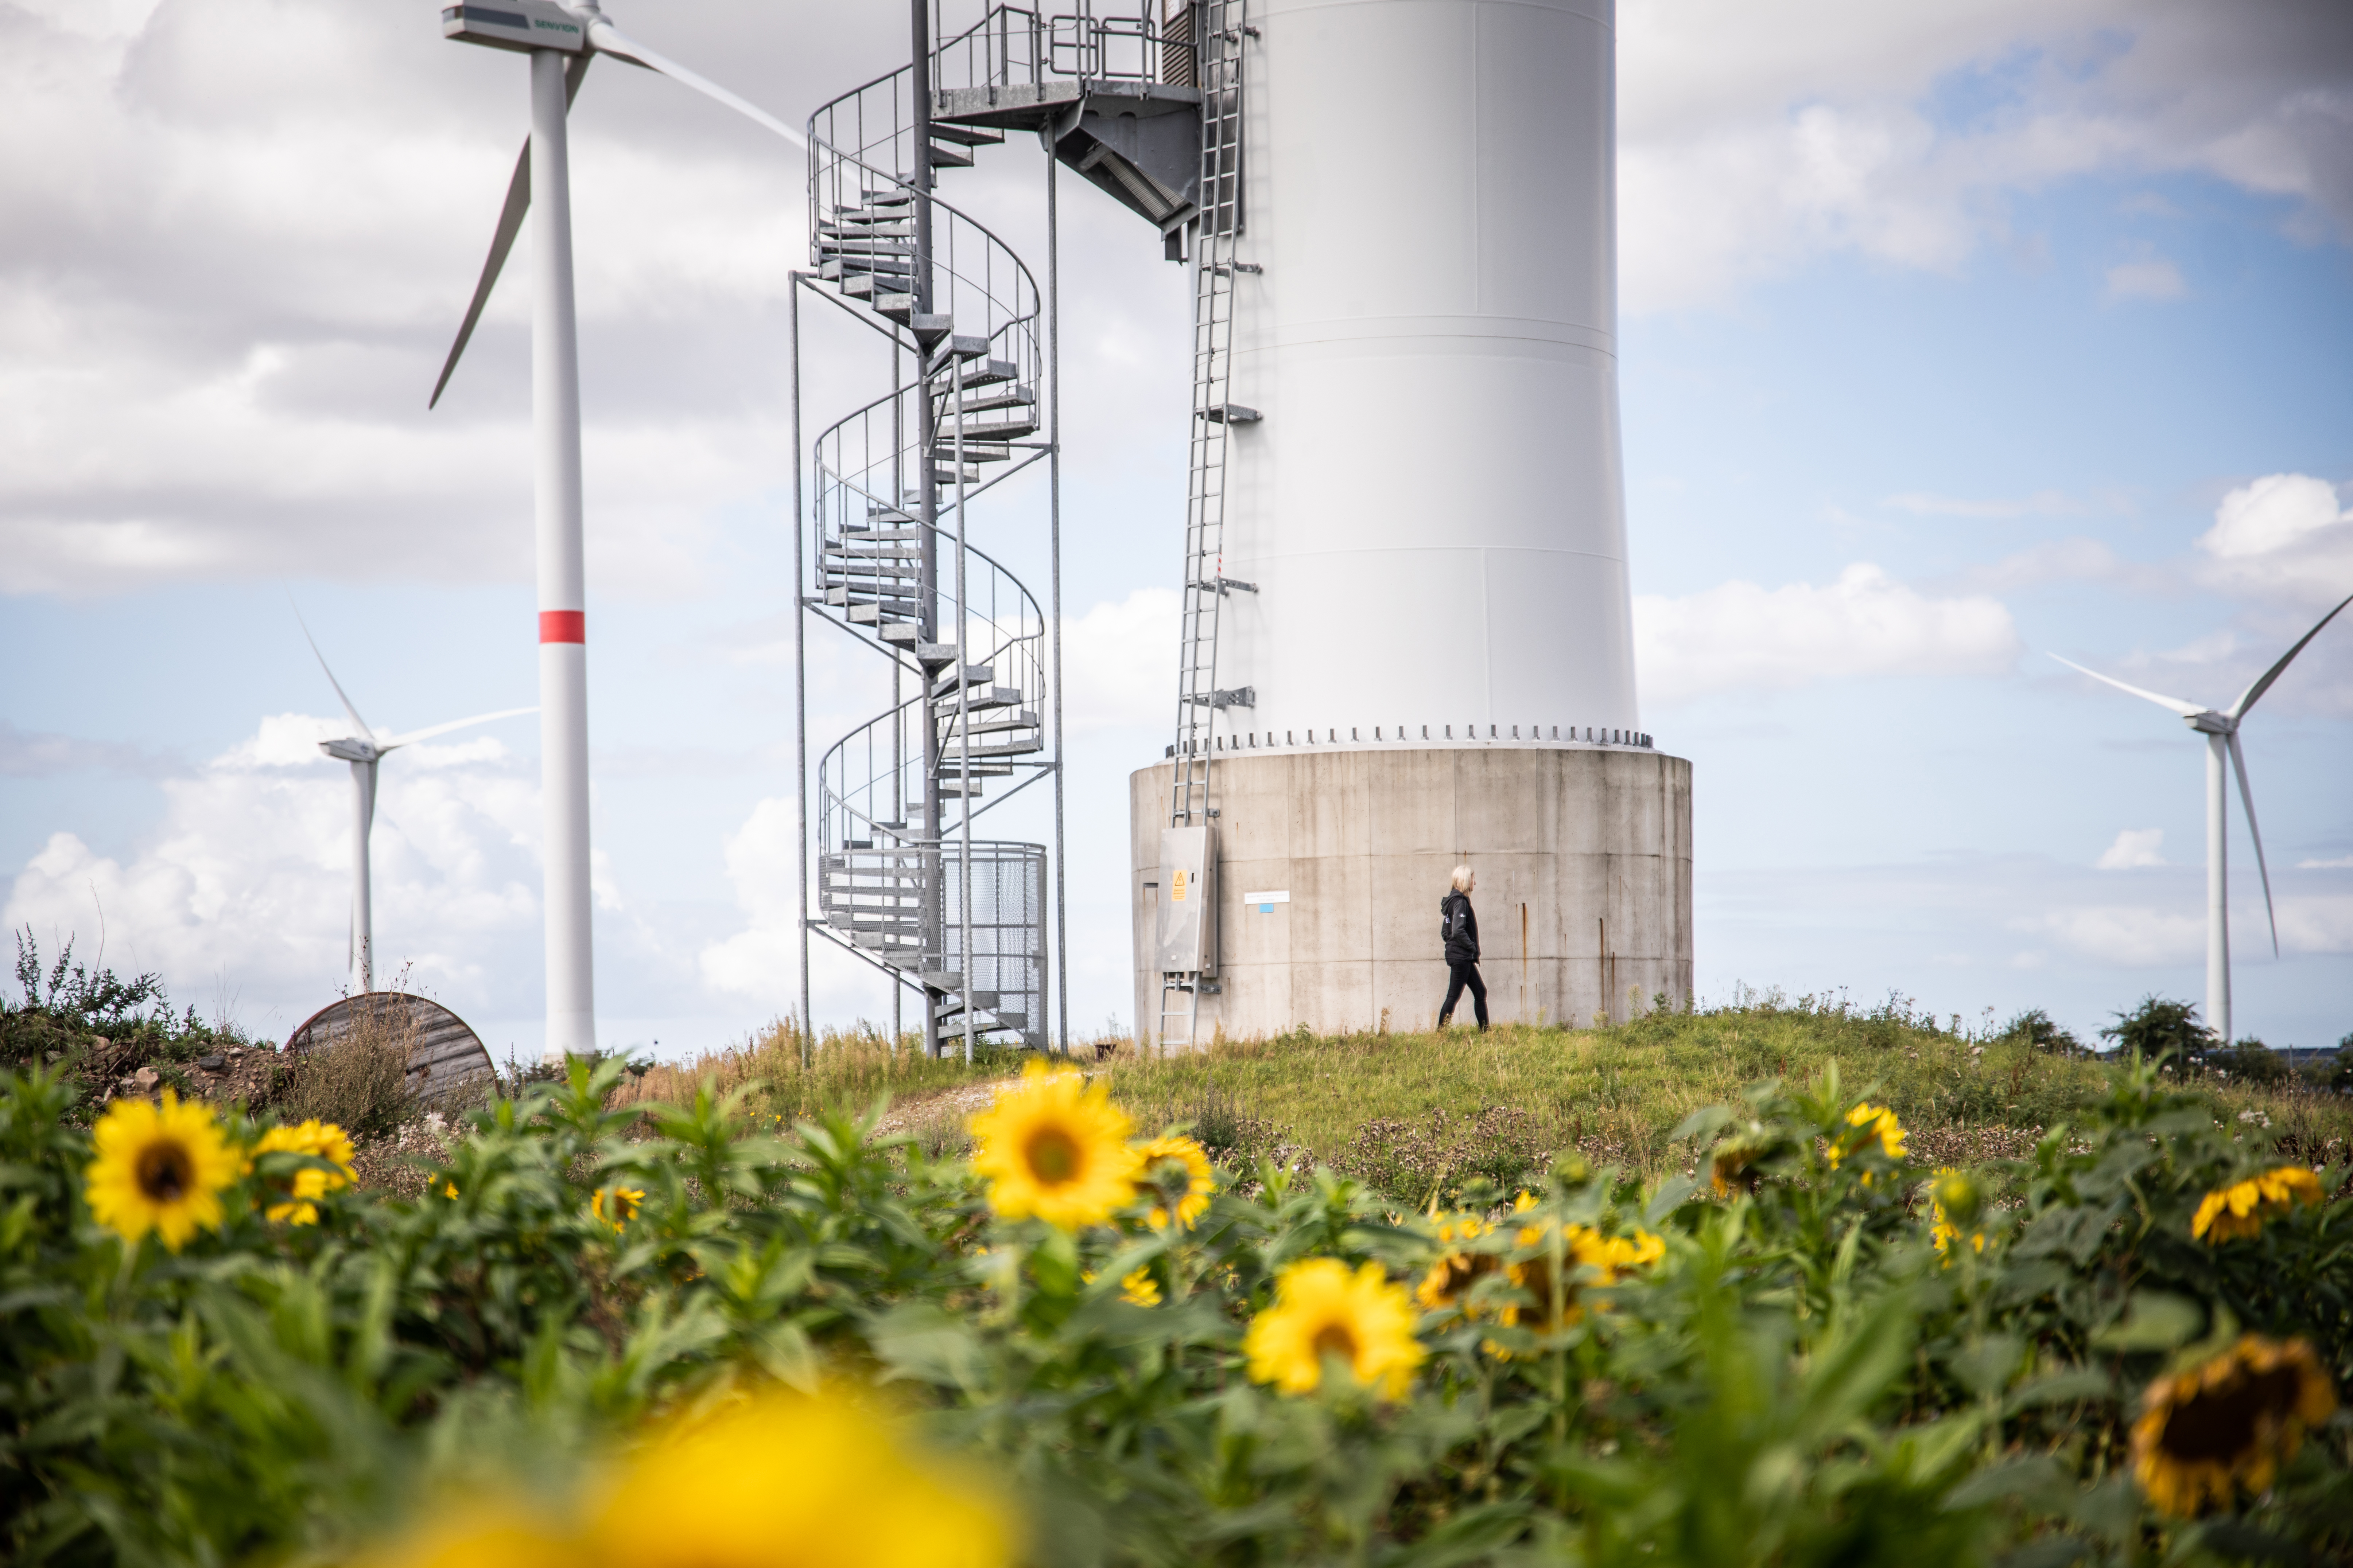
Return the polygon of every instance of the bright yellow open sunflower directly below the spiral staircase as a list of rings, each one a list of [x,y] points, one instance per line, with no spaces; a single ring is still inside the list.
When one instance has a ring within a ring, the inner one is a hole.
[[[1127,1147],[1132,1131],[1108,1086],[1031,1063],[1016,1088],[972,1119],[981,1145],[972,1168],[988,1178],[988,1206],[1005,1220],[1101,1225],[1136,1194],[1144,1154]]]

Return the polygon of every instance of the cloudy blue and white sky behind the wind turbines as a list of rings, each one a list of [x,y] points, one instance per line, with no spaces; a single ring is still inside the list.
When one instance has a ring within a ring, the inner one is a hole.
[[[638,0],[781,118],[904,7]],[[2078,1030],[2202,992],[2202,757],[2353,592],[2353,12],[1626,0],[1645,724],[1697,766],[1699,987]],[[0,0],[0,903],[282,1037],[341,983],[348,729],[534,701],[527,301],[426,393],[527,118],[412,0]],[[713,1046],[793,973],[786,284],[800,162],[605,66],[574,110],[598,1004]],[[1040,254],[1040,155],[958,193]],[[1186,292],[1064,181],[1071,1013],[1127,1009],[1127,769],[1174,656]],[[1409,235],[1395,242],[1409,244]],[[518,254],[520,261],[520,254]],[[522,275],[520,268],[515,273]],[[812,322],[809,407],[854,343]],[[1009,498],[1021,505],[1021,498]],[[812,731],[875,703],[826,637]],[[2264,698],[2238,1025],[2353,1030],[2353,616]],[[391,966],[536,1048],[536,726],[393,755]],[[1007,813],[1019,811],[1009,806]],[[887,1009],[821,964],[819,1016]]]

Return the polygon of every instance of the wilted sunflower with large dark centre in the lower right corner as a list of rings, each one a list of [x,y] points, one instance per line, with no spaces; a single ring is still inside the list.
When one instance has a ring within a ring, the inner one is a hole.
[[[2238,1345],[2174,1378],[2158,1378],[2132,1425],[2132,1479],[2177,1519],[2231,1493],[2271,1488],[2304,1434],[2337,1410],[2320,1359],[2304,1340],[2242,1335]]]

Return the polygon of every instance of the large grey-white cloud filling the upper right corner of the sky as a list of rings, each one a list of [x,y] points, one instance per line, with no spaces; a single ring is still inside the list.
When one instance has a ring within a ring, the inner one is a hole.
[[[1953,273],[2012,240],[2012,193],[2087,174],[2195,169],[2353,230],[2344,49],[2327,5],[1626,0],[1626,308],[1831,252]]]

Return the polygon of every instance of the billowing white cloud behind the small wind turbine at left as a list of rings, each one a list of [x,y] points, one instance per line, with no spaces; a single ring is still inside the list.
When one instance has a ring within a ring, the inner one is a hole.
[[[235,983],[282,1034],[346,978],[351,776],[320,755],[344,719],[273,715],[212,762],[162,780],[162,820],[108,856],[52,832],[0,922],[52,943],[104,922],[108,964],[155,969],[181,997]],[[539,1011],[539,783],[496,741],[384,762],[372,837],[376,973],[459,1013]],[[407,766],[421,762],[424,766]],[[381,983],[381,980],[379,980]]]

